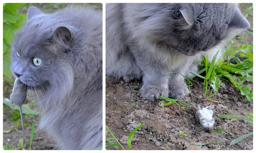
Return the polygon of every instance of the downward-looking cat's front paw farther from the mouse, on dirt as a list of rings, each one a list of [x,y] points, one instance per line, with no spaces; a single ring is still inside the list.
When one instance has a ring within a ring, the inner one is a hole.
[[[143,85],[139,91],[144,99],[149,99],[150,101],[158,99],[158,96],[168,96],[167,89],[165,89],[164,87],[158,87],[154,85]]]

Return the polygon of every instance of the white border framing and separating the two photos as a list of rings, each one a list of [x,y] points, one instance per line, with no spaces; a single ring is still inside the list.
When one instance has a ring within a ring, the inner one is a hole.
[[[106,78],[105,78],[105,53],[106,53],[106,26],[105,26],[105,6],[106,3],[177,3],[175,0],[3,0],[3,3],[102,3],[103,4],[103,150],[72,150],[72,152],[83,152],[83,153],[92,153],[92,152],[97,152],[97,153],[120,153],[120,152],[130,152],[130,153],[147,153],[149,150],[106,150],[105,149],[105,135],[106,135],[106,127],[105,125],[105,120],[106,120],[106,99],[105,99],[105,93],[106,93]],[[179,0],[178,3],[253,3],[253,0]],[[3,21],[3,7],[0,7],[0,19]],[[254,11],[253,11],[253,23],[255,22],[254,19]],[[3,22],[1,22],[3,23]],[[3,28],[1,28],[1,35],[0,35],[0,43],[3,44]],[[253,40],[255,40],[255,36],[253,35]],[[253,47],[254,49],[254,47]],[[3,47],[0,49],[3,52]],[[255,49],[254,49],[255,50]],[[0,53],[0,67],[3,68],[3,53]],[[255,57],[253,58],[255,61]],[[253,68],[253,71],[255,71],[255,66]],[[3,71],[0,71],[0,79],[3,80]],[[256,85],[253,85],[253,88],[255,88]],[[0,84],[0,99],[3,99],[3,83]],[[253,96],[254,96],[253,92]],[[255,97],[255,96],[254,96]],[[255,112],[255,105],[253,104],[253,112]],[[0,118],[1,118],[1,126],[0,126],[0,145],[1,145],[1,152],[3,150],[3,104],[0,105]],[[255,129],[255,125],[253,126]],[[242,130],[242,129],[241,129]],[[254,132],[255,133],[255,132]],[[255,137],[253,137],[253,147],[255,144]],[[255,149],[254,149],[255,150]],[[18,152],[18,151],[23,151],[27,152],[28,150],[3,150],[4,152]],[[30,152],[42,152],[45,150],[30,150]],[[49,150],[53,152],[70,152],[69,150]],[[170,153],[170,152],[189,152],[189,153],[198,153],[198,152],[203,152],[205,150],[150,150],[152,153],[156,152],[161,152],[161,153]],[[239,152],[239,150],[207,150],[207,152]],[[242,150],[243,153],[251,153],[253,150]]]

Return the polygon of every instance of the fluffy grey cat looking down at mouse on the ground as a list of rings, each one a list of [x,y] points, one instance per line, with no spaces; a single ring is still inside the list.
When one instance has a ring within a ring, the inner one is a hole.
[[[189,94],[184,77],[197,71],[224,41],[249,27],[237,4],[106,4],[106,75],[126,82],[142,77],[140,93],[178,98]],[[221,53],[218,54],[221,57]]]

